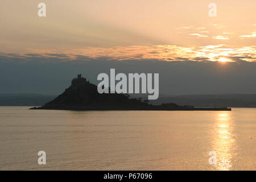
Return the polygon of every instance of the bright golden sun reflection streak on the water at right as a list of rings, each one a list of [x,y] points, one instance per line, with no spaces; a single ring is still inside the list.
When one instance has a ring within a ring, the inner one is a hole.
[[[213,148],[217,153],[217,164],[214,167],[221,171],[228,171],[232,169],[232,158],[235,155],[233,151],[236,147],[230,112],[221,112],[216,115],[213,135]]]

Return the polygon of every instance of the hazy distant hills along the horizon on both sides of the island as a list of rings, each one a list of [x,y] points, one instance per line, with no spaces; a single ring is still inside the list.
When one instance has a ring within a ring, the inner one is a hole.
[[[0,106],[43,106],[57,96],[44,94],[0,94]],[[131,95],[132,98],[143,95]],[[177,105],[193,105],[196,107],[256,107],[256,94],[206,94],[168,96],[159,95],[158,100],[151,100],[153,105],[174,102]]]

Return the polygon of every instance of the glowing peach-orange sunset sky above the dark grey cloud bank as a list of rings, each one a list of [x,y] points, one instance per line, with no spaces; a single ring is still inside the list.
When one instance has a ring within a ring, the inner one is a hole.
[[[46,3],[46,17],[37,14]],[[209,3],[217,17],[210,17]],[[255,0],[0,2],[0,54],[256,61]]]

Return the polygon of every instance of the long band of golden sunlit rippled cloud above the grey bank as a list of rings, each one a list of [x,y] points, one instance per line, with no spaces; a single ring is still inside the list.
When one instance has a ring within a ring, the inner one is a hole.
[[[194,35],[196,36],[196,35]],[[175,61],[175,57],[183,57],[188,60],[197,60],[196,57],[207,58],[210,61],[217,61],[221,56],[243,56],[256,57],[256,46],[234,47],[225,44],[184,47],[175,45],[152,45],[152,46],[115,46],[115,47],[84,47],[79,49],[47,49],[32,50],[24,54],[0,53],[10,58],[25,58],[26,61],[33,61],[36,57],[46,57],[48,61],[57,58],[62,61],[72,60],[166,60]],[[246,61],[255,61],[247,59]]]

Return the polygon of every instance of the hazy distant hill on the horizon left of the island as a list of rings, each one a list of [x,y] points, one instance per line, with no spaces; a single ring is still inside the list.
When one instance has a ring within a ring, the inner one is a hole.
[[[55,97],[43,94],[0,94],[0,106],[42,106]]]

